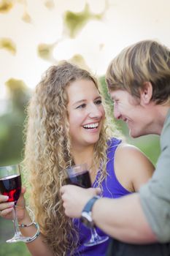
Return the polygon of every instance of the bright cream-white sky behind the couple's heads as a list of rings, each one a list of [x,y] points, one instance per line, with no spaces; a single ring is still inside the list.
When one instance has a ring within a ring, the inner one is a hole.
[[[34,89],[54,60],[81,54],[93,74],[101,76],[120,50],[134,42],[156,39],[170,48],[169,0],[14,1],[9,12],[0,14],[0,38],[12,39],[17,48],[15,55],[0,48],[0,99],[7,95],[4,85],[9,78],[23,80]],[[87,3],[93,14],[103,13],[102,19],[90,20],[70,39],[63,14],[82,12]],[[55,43],[53,61],[39,58],[37,45],[41,43]]]

